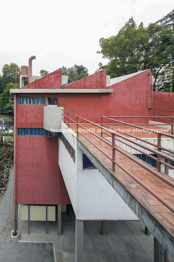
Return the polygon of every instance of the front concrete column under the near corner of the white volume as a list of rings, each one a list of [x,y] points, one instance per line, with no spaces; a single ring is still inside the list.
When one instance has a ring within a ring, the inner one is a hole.
[[[83,220],[76,218],[75,262],[83,262]]]

